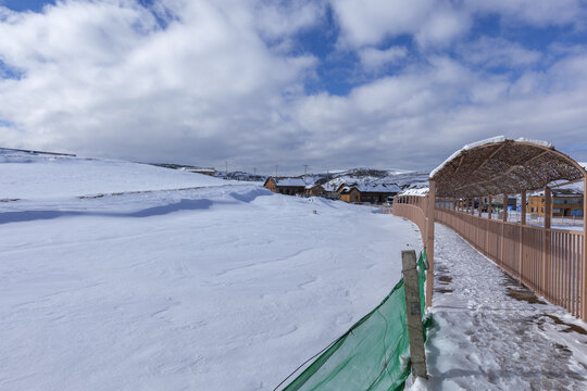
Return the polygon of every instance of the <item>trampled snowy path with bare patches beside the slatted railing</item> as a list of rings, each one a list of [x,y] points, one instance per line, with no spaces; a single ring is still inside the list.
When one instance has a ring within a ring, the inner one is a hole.
[[[424,388],[587,390],[584,323],[519,286],[439,224],[435,263]]]

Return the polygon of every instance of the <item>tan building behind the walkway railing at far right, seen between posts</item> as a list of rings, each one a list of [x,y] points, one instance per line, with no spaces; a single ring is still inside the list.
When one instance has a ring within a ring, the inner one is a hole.
[[[573,189],[552,189],[552,216],[583,216],[583,192]],[[545,192],[528,195],[528,212],[545,215]]]

